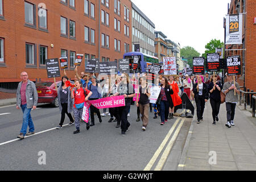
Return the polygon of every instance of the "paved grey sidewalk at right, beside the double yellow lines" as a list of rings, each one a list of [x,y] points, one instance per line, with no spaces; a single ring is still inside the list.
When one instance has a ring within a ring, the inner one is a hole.
[[[225,126],[225,103],[221,104],[216,125],[212,125],[212,108],[209,101],[205,104],[204,121],[200,124],[196,123],[195,110],[177,170],[256,170],[256,119],[242,108],[237,105],[235,126],[231,128]],[[214,152],[217,163],[209,164],[213,162],[211,159]]]

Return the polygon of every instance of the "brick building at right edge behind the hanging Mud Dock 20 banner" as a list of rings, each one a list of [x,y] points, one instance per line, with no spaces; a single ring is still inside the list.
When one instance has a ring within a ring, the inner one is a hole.
[[[241,72],[237,81],[246,89],[256,90],[256,1],[255,0],[231,0],[228,14],[243,13],[242,44],[225,45],[226,49],[245,49],[225,51],[226,56],[241,55]]]

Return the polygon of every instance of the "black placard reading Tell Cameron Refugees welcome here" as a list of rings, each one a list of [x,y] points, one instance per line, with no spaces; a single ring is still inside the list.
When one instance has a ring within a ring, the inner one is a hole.
[[[46,69],[48,78],[60,77],[59,59],[46,59]]]

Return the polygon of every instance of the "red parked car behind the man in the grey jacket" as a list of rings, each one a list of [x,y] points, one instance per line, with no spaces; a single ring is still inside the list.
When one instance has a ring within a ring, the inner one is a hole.
[[[56,84],[58,85],[59,82],[61,81],[57,81]],[[50,103],[54,107],[59,107],[57,90],[55,90],[54,82],[37,82],[35,85],[38,92],[38,103]]]

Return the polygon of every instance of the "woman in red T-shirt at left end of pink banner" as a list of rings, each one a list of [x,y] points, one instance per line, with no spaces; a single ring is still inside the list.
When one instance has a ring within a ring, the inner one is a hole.
[[[89,97],[92,95],[90,90],[82,88],[81,80],[75,82],[76,88],[73,88],[71,92],[71,98],[75,98],[75,104],[73,105],[73,113],[75,116],[75,126],[76,131],[73,134],[80,133],[80,119],[82,119],[82,110],[84,109],[84,101],[88,101]],[[89,130],[89,122],[86,123],[86,129]]]

